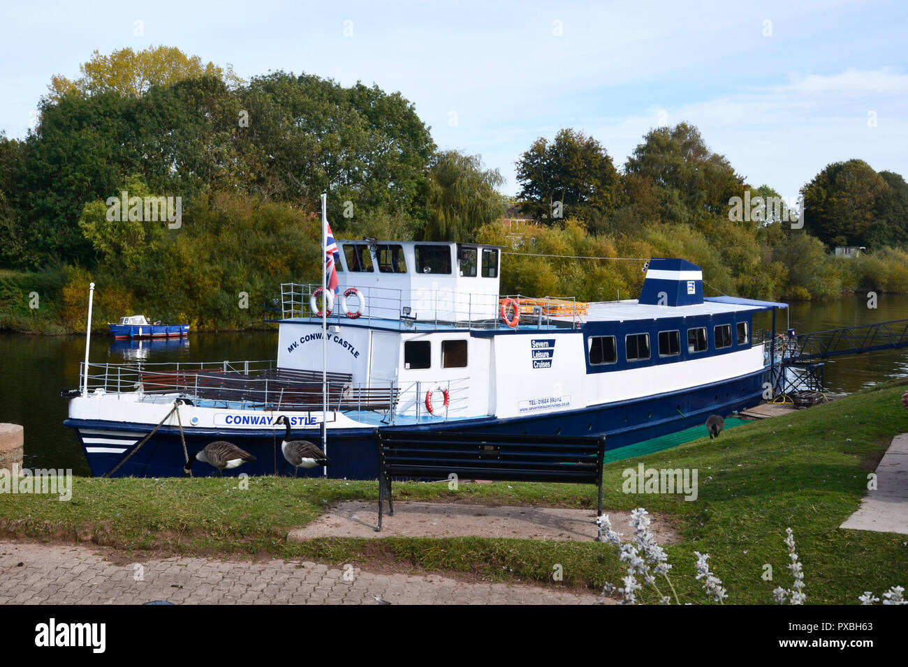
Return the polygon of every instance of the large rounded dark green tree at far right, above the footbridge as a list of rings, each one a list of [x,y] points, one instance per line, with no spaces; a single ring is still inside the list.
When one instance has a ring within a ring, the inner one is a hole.
[[[879,234],[887,226],[880,213],[889,191],[886,180],[863,160],[827,164],[801,191],[804,225],[830,248],[866,245],[870,231]]]

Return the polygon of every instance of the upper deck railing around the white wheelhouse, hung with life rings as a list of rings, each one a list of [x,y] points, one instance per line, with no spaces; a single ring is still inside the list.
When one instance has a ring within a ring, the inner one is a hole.
[[[317,312],[311,308],[311,297],[319,289],[321,285],[282,283],[280,311],[283,319],[317,318]],[[361,317],[361,322],[380,324],[383,328],[387,328],[389,322],[394,322],[400,330],[508,329],[499,315],[501,299],[517,300],[521,325],[538,329],[565,328],[569,326],[564,321],[566,316],[573,317],[576,326],[577,316],[583,311],[573,298],[533,299],[520,294],[499,297],[495,294],[461,293],[450,289],[357,289],[365,298],[366,305],[361,316],[356,319]],[[343,289],[339,291],[342,293]],[[357,303],[355,297],[350,299],[351,304]],[[321,297],[319,303],[321,304]],[[562,321],[553,321],[552,317],[556,315]],[[351,321],[345,312],[341,312],[340,303],[334,304],[328,319],[332,324]]]

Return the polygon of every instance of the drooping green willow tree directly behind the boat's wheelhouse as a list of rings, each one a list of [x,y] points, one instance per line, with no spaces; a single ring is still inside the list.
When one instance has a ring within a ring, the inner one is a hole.
[[[504,182],[497,169],[487,170],[479,155],[440,152],[429,168],[423,240],[473,240],[484,224],[498,220],[506,200],[496,188]]]

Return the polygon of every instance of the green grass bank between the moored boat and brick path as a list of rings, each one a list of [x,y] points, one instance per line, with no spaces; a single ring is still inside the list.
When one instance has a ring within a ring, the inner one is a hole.
[[[784,417],[735,427],[710,441],[701,438],[605,468],[604,506],[646,507],[665,515],[682,541],[667,547],[673,582],[682,602],[703,603],[694,579],[694,551],[728,589],[729,603],[771,603],[777,585],[790,587],[785,569],[785,528],[795,531],[804,564],[808,603],[856,603],[864,591],[879,595],[908,584],[908,535],[842,530],[866,492],[893,436],[908,431],[900,402],[908,381],[887,383],[852,397]],[[699,475],[699,497],[626,495],[622,471],[690,467]],[[64,542],[91,540],[127,551],[230,554],[314,559],[331,564],[391,564],[479,576],[495,581],[551,583],[560,564],[563,584],[619,584],[624,569],[617,549],[596,543],[522,539],[322,538],[287,544],[303,525],[340,500],[376,500],[375,482],[251,478],[244,491],[236,478],[75,478],[73,500],[50,495],[0,496],[0,535]],[[593,508],[593,486],[498,483],[395,484],[395,498],[495,505]],[[627,526],[616,528],[628,534]],[[773,581],[765,581],[771,564]],[[559,584],[560,585],[560,584]],[[653,602],[652,593],[643,599]]]

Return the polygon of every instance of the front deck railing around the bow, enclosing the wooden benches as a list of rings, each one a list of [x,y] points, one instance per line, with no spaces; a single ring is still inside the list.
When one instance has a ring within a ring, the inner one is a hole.
[[[85,386],[86,368],[80,365]],[[433,382],[416,381],[400,387],[396,380],[354,383],[350,374],[321,370],[277,368],[274,361],[218,361],[173,363],[89,363],[89,394],[128,397],[144,402],[184,398],[198,407],[236,410],[321,411],[327,393],[328,409],[349,414],[379,413],[380,421],[393,424],[406,417],[429,417],[426,395],[439,421],[465,416],[469,409],[469,378]],[[448,401],[447,409],[444,402]]]

